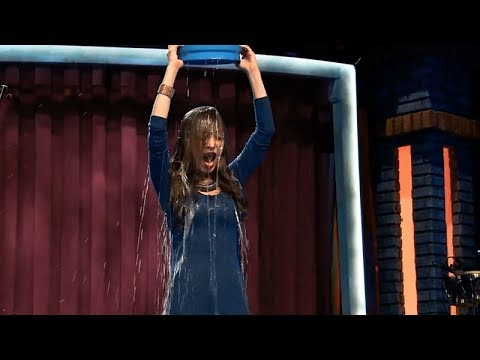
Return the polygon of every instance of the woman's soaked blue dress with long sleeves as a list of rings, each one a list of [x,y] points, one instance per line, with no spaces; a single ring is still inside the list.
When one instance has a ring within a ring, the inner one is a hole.
[[[243,186],[268,149],[275,126],[268,97],[254,100],[256,127],[229,167]],[[167,121],[151,116],[148,133],[150,178],[165,212],[172,239],[167,314],[248,314],[240,256],[238,214],[232,197],[198,193],[191,219],[180,229],[169,204]]]

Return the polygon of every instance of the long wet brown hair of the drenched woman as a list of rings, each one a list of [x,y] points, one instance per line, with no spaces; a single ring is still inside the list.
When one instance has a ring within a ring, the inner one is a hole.
[[[175,153],[170,161],[170,203],[180,224],[184,223],[187,200],[197,199],[196,189],[199,179],[196,169],[195,151],[211,135],[223,135],[223,153],[218,162],[218,187],[230,194],[235,201],[239,218],[243,222],[247,214],[247,200],[240,183],[228,167],[227,138],[225,124],[218,110],[213,106],[199,106],[188,111],[182,118]]]

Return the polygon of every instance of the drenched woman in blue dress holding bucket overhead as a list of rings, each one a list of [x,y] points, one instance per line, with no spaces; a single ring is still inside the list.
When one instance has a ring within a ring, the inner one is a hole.
[[[242,186],[262,161],[275,126],[255,53],[242,45],[239,67],[253,92],[256,128],[228,163],[226,128],[219,112],[200,106],[180,124],[176,151],[168,152],[167,117],[183,61],[168,47],[168,65],[152,109],[150,177],[171,236],[170,282],[164,313],[248,314],[242,260],[247,201]]]

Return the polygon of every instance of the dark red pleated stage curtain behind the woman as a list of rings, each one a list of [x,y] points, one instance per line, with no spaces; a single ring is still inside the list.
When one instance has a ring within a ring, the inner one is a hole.
[[[147,123],[163,69],[0,66],[0,311],[156,314],[162,219]],[[246,185],[253,314],[338,313],[333,132],[325,81],[264,74],[277,133]],[[213,104],[233,158],[254,129],[239,72],[183,69],[169,123]]]

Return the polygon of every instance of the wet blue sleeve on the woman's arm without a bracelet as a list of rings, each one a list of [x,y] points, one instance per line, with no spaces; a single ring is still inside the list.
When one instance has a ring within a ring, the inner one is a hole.
[[[275,124],[269,98],[254,99],[253,105],[255,130],[240,154],[229,165],[242,186],[262,162],[275,134]]]

